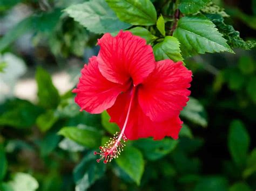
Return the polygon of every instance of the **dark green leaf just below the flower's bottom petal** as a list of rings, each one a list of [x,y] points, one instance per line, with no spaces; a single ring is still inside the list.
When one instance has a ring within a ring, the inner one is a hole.
[[[152,138],[139,139],[133,142],[143,155],[149,160],[158,160],[166,154],[172,152],[178,144],[177,140],[165,138],[163,140],[153,140]]]

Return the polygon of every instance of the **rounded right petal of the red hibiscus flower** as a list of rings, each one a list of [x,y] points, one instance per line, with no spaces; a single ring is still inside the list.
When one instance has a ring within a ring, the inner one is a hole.
[[[185,107],[190,91],[192,72],[182,62],[157,62],[156,69],[139,87],[138,100],[152,121],[166,121],[178,116]]]

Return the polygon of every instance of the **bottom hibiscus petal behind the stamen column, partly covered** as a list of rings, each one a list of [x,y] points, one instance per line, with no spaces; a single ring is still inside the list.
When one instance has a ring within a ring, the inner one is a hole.
[[[123,128],[130,99],[131,91],[120,94],[114,105],[107,109],[107,112],[111,116],[110,122],[117,123],[120,129]],[[163,122],[151,121],[151,119],[144,114],[142,108],[140,108],[138,96],[136,95],[132,103],[129,120],[124,133],[130,140],[147,137],[153,137],[154,140],[159,140],[163,139],[165,136],[178,139],[182,123],[179,116],[174,116]]]

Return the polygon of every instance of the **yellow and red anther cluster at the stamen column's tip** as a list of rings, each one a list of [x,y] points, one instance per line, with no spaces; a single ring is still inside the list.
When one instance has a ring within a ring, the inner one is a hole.
[[[111,160],[114,158],[118,158],[118,155],[123,151],[123,147],[125,146],[127,138],[125,137],[124,133],[121,135],[119,132],[116,132],[114,134],[113,138],[110,138],[110,140],[104,145],[100,146],[100,152],[94,152],[94,154],[99,154],[100,158],[97,159],[97,162],[104,159],[104,163],[111,162]]]

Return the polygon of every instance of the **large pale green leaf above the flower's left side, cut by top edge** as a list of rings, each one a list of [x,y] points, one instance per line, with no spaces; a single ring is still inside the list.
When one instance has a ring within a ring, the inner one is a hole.
[[[64,11],[89,31],[98,34],[119,31],[131,26],[120,22],[105,0],[94,0],[71,5]]]

